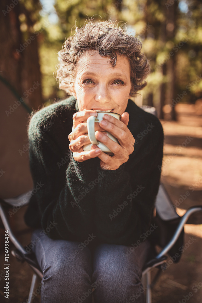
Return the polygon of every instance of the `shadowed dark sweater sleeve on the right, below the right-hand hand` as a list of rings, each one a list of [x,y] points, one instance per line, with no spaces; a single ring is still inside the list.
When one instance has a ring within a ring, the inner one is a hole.
[[[141,240],[141,234],[151,224],[164,141],[160,121],[155,116],[151,119],[155,127],[135,142],[128,163],[117,170],[102,171],[104,178],[98,184],[95,222],[97,235],[104,242],[131,245]]]

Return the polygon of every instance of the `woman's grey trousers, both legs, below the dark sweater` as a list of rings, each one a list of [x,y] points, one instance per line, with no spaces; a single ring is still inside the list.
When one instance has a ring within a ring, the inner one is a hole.
[[[93,252],[87,243],[53,240],[40,229],[31,240],[43,272],[41,303],[91,303],[92,296],[95,303],[144,303],[142,267],[151,248],[147,239],[137,248],[99,244]]]

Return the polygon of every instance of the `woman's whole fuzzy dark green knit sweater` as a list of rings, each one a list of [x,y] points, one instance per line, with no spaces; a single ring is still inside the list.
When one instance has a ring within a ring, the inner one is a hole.
[[[69,150],[74,97],[49,105],[30,120],[30,169],[36,188],[25,222],[52,239],[131,245],[150,227],[163,157],[163,128],[131,99],[127,127],[134,151],[117,170],[102,170],[98,157],[75,161]],[[53,225],[51,225],[52,223]]]

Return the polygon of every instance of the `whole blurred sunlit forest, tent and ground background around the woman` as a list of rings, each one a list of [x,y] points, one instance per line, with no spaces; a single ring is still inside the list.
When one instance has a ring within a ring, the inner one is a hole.
[[[53,76],[58,64],[57,52],[65,38],[75,33],[75,24],[80,27],[93,17],[95,21],[111,18],[141,40],[150,60],[151,74],[147,86],[133,101],[139,106],[155,107],[163,125],[161,182],[179,215],[193,205],[202,205],[202,2],[14,2],[0,2],[1,197],[11,198],[32,188],[27,138],[29,113],[67,97]],[[19,102],[20,98],[23,101]],[[190,195],[185,195],[187,191]],[[182,197],[185,198],[180,202]],[[23,222],[23,213],[24,208],[10,221],[18,238],[27,245],[31,231]],[[167,269],[154,289],[154,303],[182,302],[183,295],[201,282],[202,225],[185,225],[185,241],[193,235],[197,241],[182,255],[179,264]],[[22,267],[12,262],[11,298],[24,302],[31,270],[28,265]],[[0,285],[4,299],[4,285]],[[190,303],[202,303],[201,290],[189,299]],[[35,298],[37,302],[39,295]]]

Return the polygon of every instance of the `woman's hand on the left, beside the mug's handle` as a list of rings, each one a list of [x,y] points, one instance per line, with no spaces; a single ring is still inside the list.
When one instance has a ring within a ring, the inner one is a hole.
[[[98,148],[97,145],[96,149],[91,149],[90,151],[83,150],[83,146],[91,143],[91,141],[88,137],[87,123],[82,122],[87,120],[90,116],[96,117],[97,112],[84,109],[83,111],[76,112],[73,115],[72,132],[68,136],[70,141],[69,149],[73,152],[74,159],[79,162],[83,162],[90,158],[95,158],[101,153],[101,149]],[[104,129],[101,128],[99,123],[95,123],[95,131],[103,132]]]

